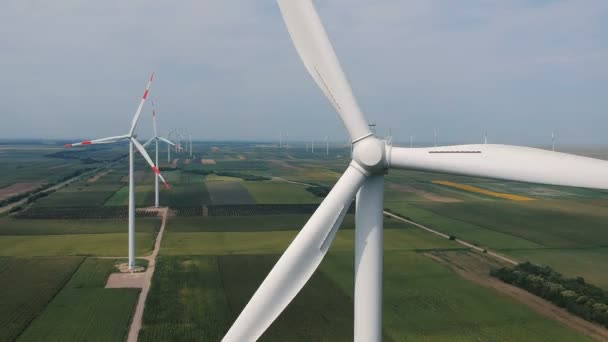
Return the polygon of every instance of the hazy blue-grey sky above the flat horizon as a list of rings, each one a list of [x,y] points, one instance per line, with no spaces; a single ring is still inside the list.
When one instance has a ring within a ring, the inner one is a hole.
[[[608,145],[608,1],[315,3],[379,135]],[[126,133],[152,71],[161,133],[347,139],[272,0],[4,0],[0,138]]]

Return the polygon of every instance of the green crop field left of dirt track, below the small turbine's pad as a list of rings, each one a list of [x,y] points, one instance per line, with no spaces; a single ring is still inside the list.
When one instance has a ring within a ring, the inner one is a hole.
[[[139,295],[105,289],[117,260],[86,259],[18,341],[122,341]]]

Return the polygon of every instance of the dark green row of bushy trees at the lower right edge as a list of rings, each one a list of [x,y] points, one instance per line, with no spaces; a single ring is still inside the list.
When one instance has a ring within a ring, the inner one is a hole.
[[[549,266],[529,262],[499,268],[490,274],[542,297],[588,321],[608,327],[608,292],[582,277],[566,278]]]

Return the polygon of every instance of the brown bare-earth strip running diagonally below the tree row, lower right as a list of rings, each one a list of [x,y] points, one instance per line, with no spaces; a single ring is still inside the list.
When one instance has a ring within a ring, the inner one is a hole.
[[[582,334],[591,337],[595,341],[608,341],[608,329],[575,316],[569,313],[567,310],[562,309],[524,289],[506,284],[499,279],[490,276],[488,272],[480,272],[479,268],[471,267],[471,265],[464,260],[459,260],[459,258],[451,258],[448,255],[441,256],[428,253],[425,255],[440,264],[446,265],[463,278],[505,294],[518,302],[527,305],[539,314],[579,331]],[[471,258],[481,260],[483,259],[483,256],[472,255]]]

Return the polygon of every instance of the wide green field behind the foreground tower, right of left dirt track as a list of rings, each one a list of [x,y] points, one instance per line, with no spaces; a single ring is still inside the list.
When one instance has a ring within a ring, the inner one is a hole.
[[[141,340],[221,338],[277,257],[161,257]],[[385,341],[587,340],[420,254],[388,252],[385,267]],[[352,340],[352,270],[352,253],[330,253],[261,341]]]

